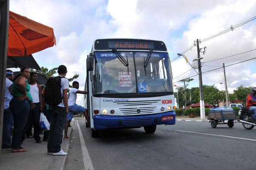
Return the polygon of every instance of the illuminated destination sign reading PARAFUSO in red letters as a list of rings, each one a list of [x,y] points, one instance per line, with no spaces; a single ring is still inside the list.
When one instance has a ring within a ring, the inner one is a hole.
[[[108,48],[116,49],[154,49],[154,43],[150,42],[129,42],[129,41],[108,41]]]

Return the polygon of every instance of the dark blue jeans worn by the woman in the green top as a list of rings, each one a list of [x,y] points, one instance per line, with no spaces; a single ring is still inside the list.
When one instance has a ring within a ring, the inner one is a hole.
[[[26,121],[29,116],[29,101],[19,101],[17,98],[12,98],[10,101],[10,109],[13,115],[13,135],[12,135],[12,149],[19,149],[21,147],[21,135]]]

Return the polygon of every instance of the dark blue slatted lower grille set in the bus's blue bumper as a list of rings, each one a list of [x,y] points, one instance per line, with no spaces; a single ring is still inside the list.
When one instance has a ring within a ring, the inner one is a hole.
[[[125,127],[148,126],[156,124],[154,116],[143,118],[122,118],[122,124]]]

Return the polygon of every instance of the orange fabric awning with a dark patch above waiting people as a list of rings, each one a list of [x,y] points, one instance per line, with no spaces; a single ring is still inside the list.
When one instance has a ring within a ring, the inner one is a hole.
[[[56,45],[53,29],[9,12],[8,56],[26,56]]]

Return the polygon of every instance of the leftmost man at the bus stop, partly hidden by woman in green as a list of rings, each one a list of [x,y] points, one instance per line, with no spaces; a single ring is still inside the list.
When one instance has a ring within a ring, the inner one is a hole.
[[[3,105],[3,142],[2,149],[11,148],[11,135],[12,135],[12,127],[13,127],[13,116],[12,112],[9,109],[9,103],[12,99],[11,92],[9,91],[9,87],[12,85],[12,80],[14,78],[14,74],[12,70],[6,70],[6,84],[5,84],[5,92],[4,92],[4,105]]]

